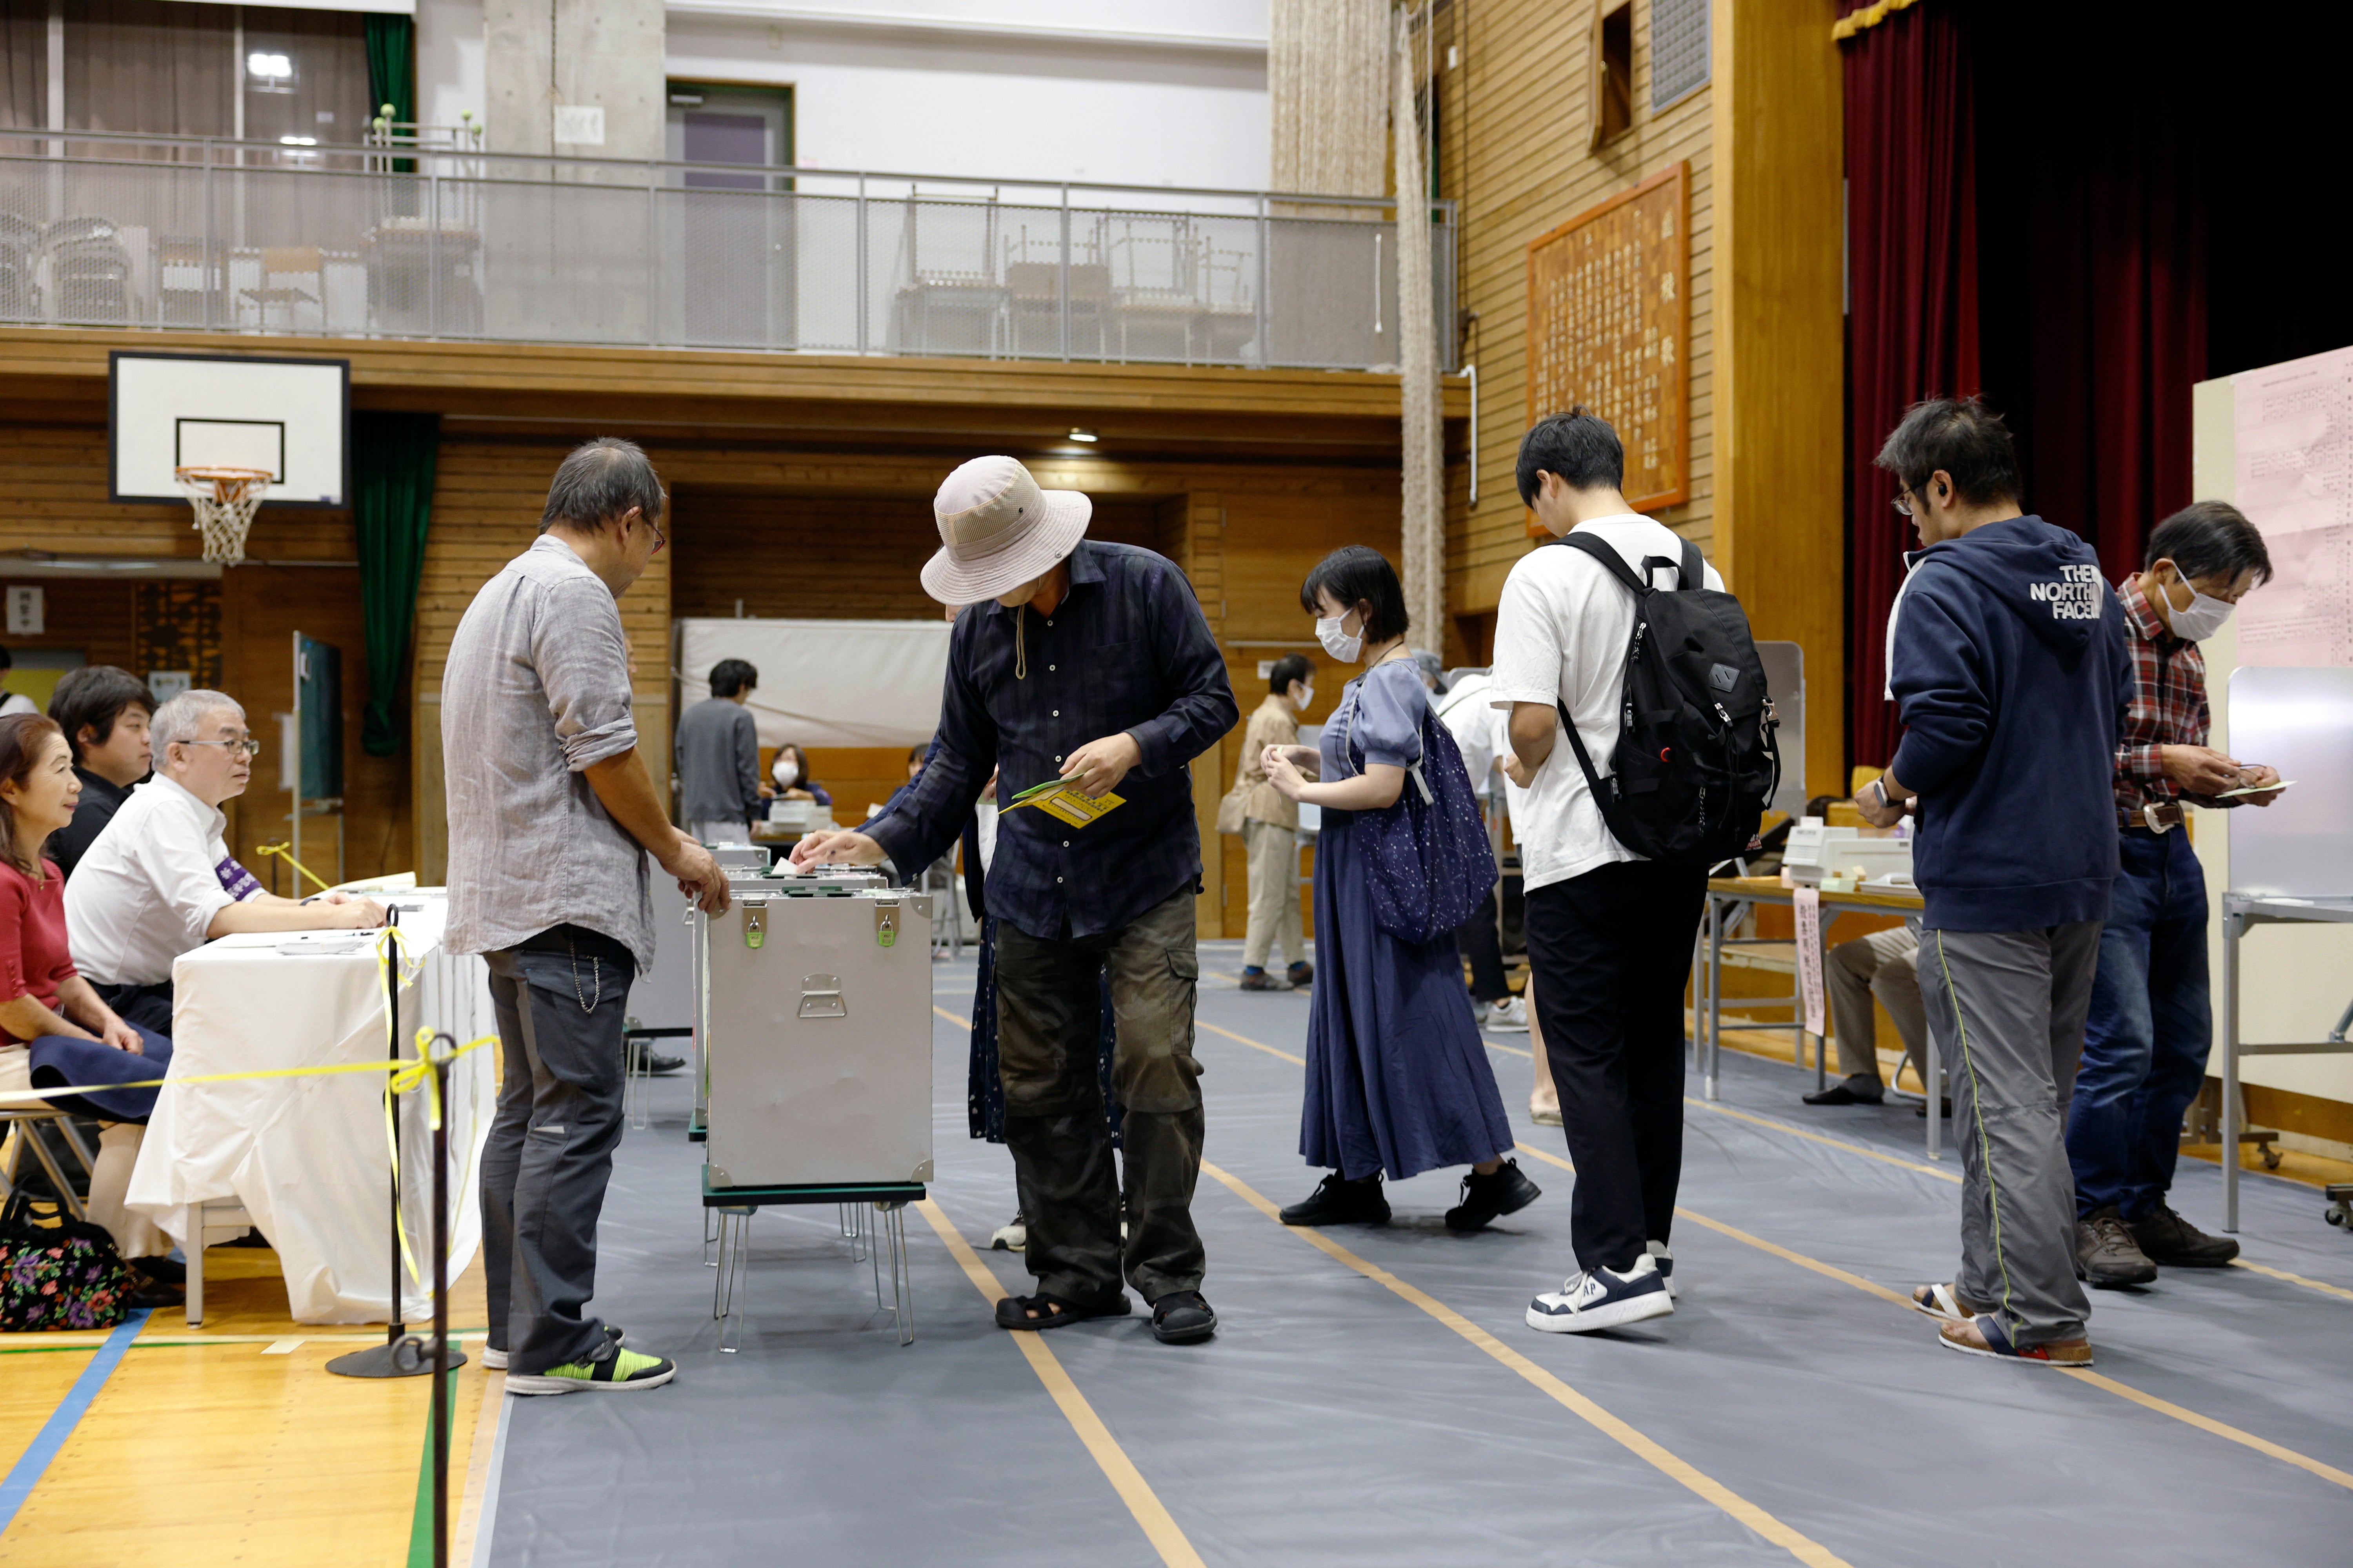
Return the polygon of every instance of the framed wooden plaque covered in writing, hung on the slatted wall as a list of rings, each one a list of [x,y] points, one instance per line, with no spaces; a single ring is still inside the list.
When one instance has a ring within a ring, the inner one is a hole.
[[[1692,498],[1689,284],[1689,162],[1527,247],[1527,423],[1584,404],[1617,425],[1645,512]]]

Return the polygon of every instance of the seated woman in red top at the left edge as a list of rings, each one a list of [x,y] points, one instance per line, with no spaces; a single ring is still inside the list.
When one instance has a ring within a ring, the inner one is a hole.
[[[122,1023],[66,952],[66,886],[40,846],[73,820],[80,795],[73,748],[54,719],[0,717],[0,1093],[139,1084],[172,1065],[172,1041]],[[179,1265],[162,1258],[169,1239],[122,1206],[155,1091],[89,1088],[47,1103],[101,1121],[89,1220],[144,1274],[176,1284]]]

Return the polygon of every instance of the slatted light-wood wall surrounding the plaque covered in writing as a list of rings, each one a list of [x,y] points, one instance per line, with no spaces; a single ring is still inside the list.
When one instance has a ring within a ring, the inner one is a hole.
[[[1593,150],[1593,12],[1595,0],[1480,0],[1440,21],[1440,59],[1449,28],[1461,49],[1440,73],[1440,181],[1464,202],[1461,308],[1478,317],[1464,336],[1464,362],[1478,367],[1475,508],[1466,465],[1447,468],[1447,609],[1468,625],[1492,625],[1504,576],[1532,543],[1513,482],[1527,430],[1527,244],[1680,160],[1692,165],[1689,501],[1659,520],[1715,550],[1713,87],[1649,113],[1652,7],[1633,5],[1633,129]],[[1466,635],[1461,651],[1482,661],[1482,637]]]

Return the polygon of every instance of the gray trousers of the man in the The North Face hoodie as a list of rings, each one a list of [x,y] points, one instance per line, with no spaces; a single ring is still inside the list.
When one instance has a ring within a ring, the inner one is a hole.
[[[1922,931],[1920,1001],[1953,1084],[1960,1274],[2012,1345],[2085,1333],[2066,1103],[2099,966],[2097,919],[2042,931]]]

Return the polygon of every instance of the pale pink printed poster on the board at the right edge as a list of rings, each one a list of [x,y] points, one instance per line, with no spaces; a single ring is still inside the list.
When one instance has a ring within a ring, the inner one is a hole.
[[[2353,665],[2353,348],[2231,378],[2238,508],[2273,576],[2238,609],[2242,665]]]

